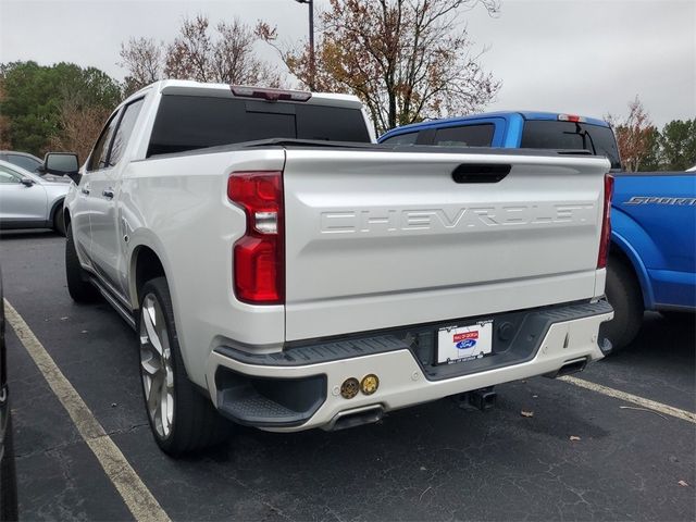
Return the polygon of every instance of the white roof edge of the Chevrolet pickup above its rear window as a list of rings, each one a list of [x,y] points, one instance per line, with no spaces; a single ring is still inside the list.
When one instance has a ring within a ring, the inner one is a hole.
[[[263,88],[263,87],[259,87]],[[234,95],[228,84],[207,84],[201,82],[192,82],[188,79],[161,79],[144,87],[136,94],[132,95],[128,100],[141,96],[144,92],[157,89],[163,95],[183,95],[183,96],[212,96],[232,98]],[[286,90],[286,89],[281,89]],[[291,90],[291,89],[287,89]],[[306,102],[316,105],[346,107],[352,109],[362,108],[362,102],[357,96],[337,95],[331,92],[312,92],[312,97]]]

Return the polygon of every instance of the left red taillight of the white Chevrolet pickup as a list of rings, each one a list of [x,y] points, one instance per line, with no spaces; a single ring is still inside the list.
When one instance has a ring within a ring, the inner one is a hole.
[[[244,207],[247,232],[234,246],[234,290],[252,304],[285,302],[283,173],[234,172],[227,197]]]

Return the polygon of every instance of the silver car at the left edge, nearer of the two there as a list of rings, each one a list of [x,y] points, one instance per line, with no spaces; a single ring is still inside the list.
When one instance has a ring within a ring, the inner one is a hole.
[[[0,228],[53,228],[65,235],[63,200],[69,188],[0,160]]]

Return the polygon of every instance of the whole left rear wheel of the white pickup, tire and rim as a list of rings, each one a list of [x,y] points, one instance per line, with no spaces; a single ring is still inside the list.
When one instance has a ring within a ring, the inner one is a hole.
[[[149,281],[140,295],[140,376],[154,440],[173,456],[221,442],[228,424],[186,375],[166,279]]]

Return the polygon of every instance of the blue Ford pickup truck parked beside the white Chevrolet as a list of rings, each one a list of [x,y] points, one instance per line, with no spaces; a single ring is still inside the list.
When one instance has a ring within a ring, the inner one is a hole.
[[[696,173],[621,171],[607,122],[550,112],[492,112],[394,128],[390,145],[587,150],[611,163],[611,250],[606,293],[614,320],[602,334],[614,348],[638,333],[645,310],[696,310]]]

